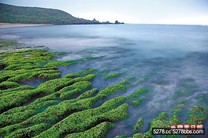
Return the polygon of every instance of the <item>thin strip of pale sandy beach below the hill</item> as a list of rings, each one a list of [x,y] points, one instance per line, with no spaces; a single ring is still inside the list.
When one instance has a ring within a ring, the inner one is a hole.
[[[12,27],[46,26],[46,25],[49,25],[49,24],[0,23],[0,29],[12,28]]]

